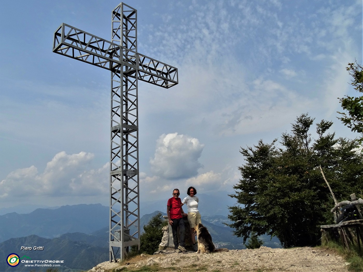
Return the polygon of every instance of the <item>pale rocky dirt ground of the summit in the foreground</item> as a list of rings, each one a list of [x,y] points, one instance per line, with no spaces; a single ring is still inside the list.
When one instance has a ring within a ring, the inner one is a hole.
[[[158,254],[156,254],[158,253]],[[213,254],[163,250],[140,255],[123,263],[101,263],[88,272],[119,271],[211,271],[211,272],[347,272],[342,256],[321,248],[269,248],[230,250]],[[144,269],[143,269],[144,268]]]

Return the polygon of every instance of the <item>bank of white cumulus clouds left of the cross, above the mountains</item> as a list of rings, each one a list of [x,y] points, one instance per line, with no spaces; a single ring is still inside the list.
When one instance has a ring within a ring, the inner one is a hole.
[[[0,182],[0,198],[21,196],[102,195],[109,192],[109,163],[89,169],[91,153],[57,153],[44,172],[32,165],[17,169]]]

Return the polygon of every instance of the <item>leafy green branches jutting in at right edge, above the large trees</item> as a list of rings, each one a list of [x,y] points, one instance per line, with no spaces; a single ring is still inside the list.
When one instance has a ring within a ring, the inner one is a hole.
[[[348,73],[353,77],[351,85],[354,89],[363,94],[363,70],[357,62],[348,63]],[[359,144],[363,143],[363,95],[359,97],[344,96],[338,98],[342,104],[345,112],[339,112],[342,117],[338,117],[344,125],[351,129],[351,131],[360,133],[358,138]]]

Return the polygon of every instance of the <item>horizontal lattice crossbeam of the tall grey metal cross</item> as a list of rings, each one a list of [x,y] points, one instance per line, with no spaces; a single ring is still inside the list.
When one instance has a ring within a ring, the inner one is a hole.
[[[54,32],[53,52],[107,70],[125,65],[130,77],[164,88],[178,84],[177,68],[64,23]]]

